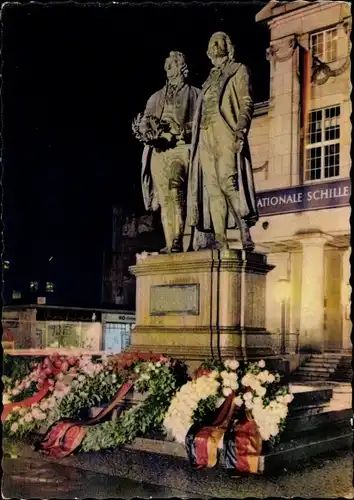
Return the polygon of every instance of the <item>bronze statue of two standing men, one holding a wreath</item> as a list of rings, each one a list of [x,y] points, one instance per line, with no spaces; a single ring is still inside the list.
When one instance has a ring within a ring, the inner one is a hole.
[[[249,228],[258,213],[247,141],[253,116],[249,72],[234,61],[225,33],[211,37],[207,55],[213,68],[200,90],[186,83],[185,56],[171,52],[166,85],[133,123],[145,144],[145,208],[161,208],[161,253],[183,251],[185,225],[212,233],[218,249],[228,248],[227,229],[238,228],[243,249],[254,249]]]

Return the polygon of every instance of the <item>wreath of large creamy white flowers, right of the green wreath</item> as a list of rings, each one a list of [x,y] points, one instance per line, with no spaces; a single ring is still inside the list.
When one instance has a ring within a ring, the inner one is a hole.
[[[279,374],[264,368],[263,360],[242,365],[235,359],[205,361],[196,378],[172,399],[164,418],[167,435],[184,444],[190,427],[202,424],[233,393],[237,412],[249,410],[262,439],[274,440],[284,427],[293,396],[288,386],[280,385]]]

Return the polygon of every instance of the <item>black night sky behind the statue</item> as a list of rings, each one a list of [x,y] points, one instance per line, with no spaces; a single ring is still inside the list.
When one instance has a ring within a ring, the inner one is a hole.
[[[226,31],[255,101],[268,99],[264,3],[247,4],[3,8],[3,221],[18,288],[48,276],[61,302],[99,304],[112,204],[144,213],[131,122],[163,87],[170,50],[200,86],[208,40]]]

